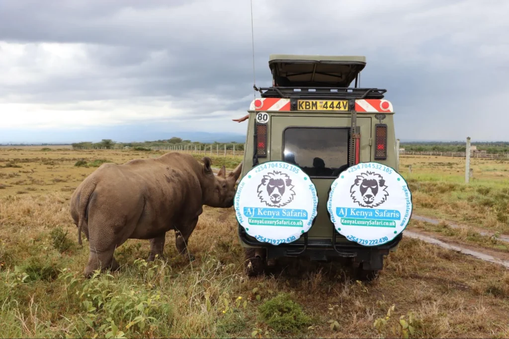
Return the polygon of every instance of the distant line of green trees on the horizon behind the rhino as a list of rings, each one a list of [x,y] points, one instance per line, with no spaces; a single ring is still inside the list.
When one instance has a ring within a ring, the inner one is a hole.
[[[215,149],[216,145],[220,145],[221,147],[224,147],[224,144],[226,144],[227,148],[232,148],[233,145],[235,145],[236,150],[244,150],[244,144],[238,143],[235,141],[232,142],[217,142],[214,141],[212,143],[203,143],[198,141],[191,141],[191,140],[183,140],[182,138],[173,137],[166,140],[155,140],[155,141],[144,141],[144,142],[116,142],[111,139],[102,139],[99,142],[90,142],[90,141],[84,141],[84,142],[76,142],[73,143],[73,147],[79,147],[79,148],[107,148],[107,149],[119,149],[124,148],[126,146],[131,148],[148,148],[151,146],[186,146],[186,145],[196,145],[196,147],[210,147],[210,145],[213,145],[213,148]],[[191,147],[191,146],[190,146]]]

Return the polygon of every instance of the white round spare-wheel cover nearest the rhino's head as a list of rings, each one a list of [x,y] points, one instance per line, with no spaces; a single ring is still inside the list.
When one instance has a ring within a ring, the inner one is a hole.
[[[297,166],[268,161],[240,180],[235,215],[247,234],[274,245],[297,240],[313,225],[318,196],[315,184]]]

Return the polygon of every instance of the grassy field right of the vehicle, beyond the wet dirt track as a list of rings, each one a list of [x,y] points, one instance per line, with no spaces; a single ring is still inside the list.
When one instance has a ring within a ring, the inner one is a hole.
[[[465,183],[464,160],[402,157],[400,173],[412,192],[414,213],[509,234],[506,161],[472,160],[474,178]],[[412,165],[412,173],[408,166]]]

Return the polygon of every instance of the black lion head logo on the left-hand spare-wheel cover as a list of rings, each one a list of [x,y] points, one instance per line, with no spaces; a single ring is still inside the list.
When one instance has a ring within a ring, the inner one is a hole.
[[[294,187],[288,174],[277,171],[267,173],[258,186],[258,198],[267,206],[286,206],[292,202],[295,196]]]

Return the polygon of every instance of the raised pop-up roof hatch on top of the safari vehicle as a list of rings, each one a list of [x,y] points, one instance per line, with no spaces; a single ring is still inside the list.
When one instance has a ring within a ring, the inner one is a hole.
[[[271,54],[269,57],[275,85],[281,87],[348,87],[365,66],[365,56]]]

